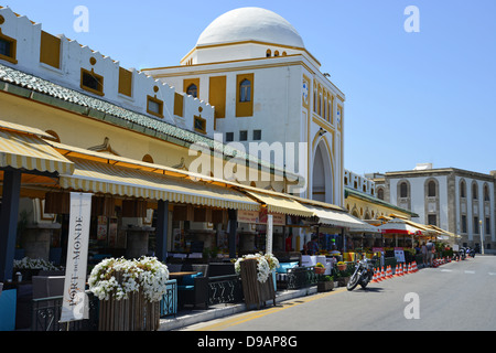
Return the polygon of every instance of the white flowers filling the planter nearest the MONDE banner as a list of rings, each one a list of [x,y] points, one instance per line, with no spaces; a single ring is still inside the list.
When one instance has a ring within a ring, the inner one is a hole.
[[[157,302],[165,293],[168,280],[168,267],[154,257],[108,258],[94,267],[88,284],[99,300],[128,299],[129,293],[142,290],[147,301]]]

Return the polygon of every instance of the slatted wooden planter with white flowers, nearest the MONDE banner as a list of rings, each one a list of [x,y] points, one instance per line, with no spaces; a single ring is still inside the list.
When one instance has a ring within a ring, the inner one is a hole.
[[[105,259],[93,269],[89,289],[100,300],[100,331],[157,331],[168,267],[157,258]]]

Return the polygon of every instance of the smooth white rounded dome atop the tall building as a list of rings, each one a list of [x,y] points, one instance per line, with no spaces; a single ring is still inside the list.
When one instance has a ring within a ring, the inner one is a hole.
[[[200,35],[196,46],[242,41],[304,47],[296,30],[279,14],[260,8],[241,8],[218,17]]]

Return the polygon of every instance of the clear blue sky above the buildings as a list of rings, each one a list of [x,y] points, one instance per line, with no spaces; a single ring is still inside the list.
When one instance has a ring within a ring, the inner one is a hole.
[[[76,6],[89,31],[76,33]],[[345,168],[410,170],[417,163],[496,170],[495,0],[3,0],[125,67],[179,65],[203,30],[240,7],[287,19],[321,71],[346,94]],[[419,9],[408,33],[405,9]]]

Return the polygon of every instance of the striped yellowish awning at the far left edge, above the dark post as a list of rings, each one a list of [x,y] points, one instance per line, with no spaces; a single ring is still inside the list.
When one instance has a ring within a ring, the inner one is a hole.
[[[4,121],[3,121],[4,122]],[[4,125],[4,124],[3,124]],[[31,130],[18,132],[0,124],[0,168],[72,174],[74,164]],[[18,126],[20,127],[20,126]],[[20,129],[20,128],[18,128]]]

